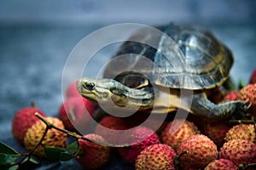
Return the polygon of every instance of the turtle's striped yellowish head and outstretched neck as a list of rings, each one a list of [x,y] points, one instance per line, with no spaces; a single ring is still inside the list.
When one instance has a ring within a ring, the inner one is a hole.
[[[125,107],[129,105],[150,105],[154,96],[148,89],[129,88],[113,79],[81,78],[77,81],[79,94],[84,98],[98,103],[107,103],[110,100],[115,105]],[[148,102],[147,102],[148,101]]]

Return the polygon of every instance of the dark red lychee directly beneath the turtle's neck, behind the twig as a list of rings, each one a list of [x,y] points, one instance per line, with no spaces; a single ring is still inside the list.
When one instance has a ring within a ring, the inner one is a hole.
[[[122,118],[116,116],[105,116],[97,124],[95,133],[101,135],[109,144],[114,145],[118,143],[119,137],[122,133],[122,131],[118,130],[125,130],[127,128],[128,127]]]

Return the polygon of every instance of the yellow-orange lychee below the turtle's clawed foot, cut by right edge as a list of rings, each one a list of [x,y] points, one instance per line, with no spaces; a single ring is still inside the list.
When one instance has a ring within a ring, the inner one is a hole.
[[[256,133],[253,124],[236,125],[226,133],[225,141],[232,139],[247,139],[251,142],[256,142]]]

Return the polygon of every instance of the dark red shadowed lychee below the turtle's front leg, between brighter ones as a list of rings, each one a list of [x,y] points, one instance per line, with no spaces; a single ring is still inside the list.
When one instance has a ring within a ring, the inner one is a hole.
[[[203,128],[203,133],[213,140],[218,146],[224,144],[224,138],[229,131],[230,125],[227,122],[208,121]]]

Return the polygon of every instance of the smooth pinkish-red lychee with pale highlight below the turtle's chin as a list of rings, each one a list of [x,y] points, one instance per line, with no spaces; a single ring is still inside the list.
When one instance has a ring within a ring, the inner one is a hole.
[[[68,98],[60,107],[59,116],[69,130],[84,128],[91,120],[95,105],[83,97]]]

